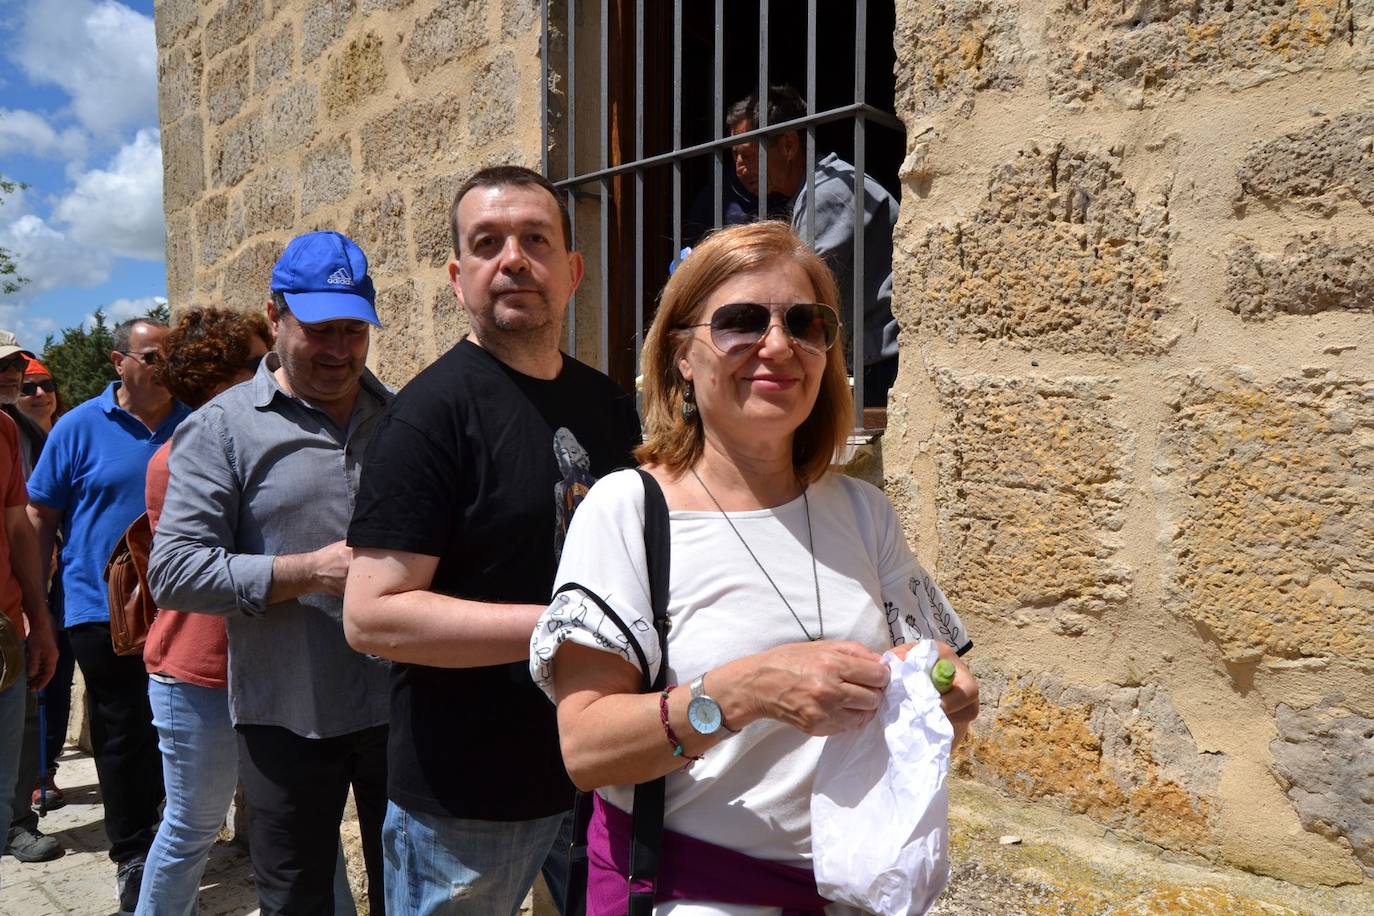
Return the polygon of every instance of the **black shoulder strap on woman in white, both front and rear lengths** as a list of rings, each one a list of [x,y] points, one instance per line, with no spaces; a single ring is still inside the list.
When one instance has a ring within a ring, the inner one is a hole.
[[[636,468],[638,470],[638,468]],[[660,692],[668,684],[668,570],[672,537],[668,529],[668,503],[658,481],[639,471],[644,483],[644,558],[649,563],[649,600],[658,634],[658,677],[650,681],[646,666],[643,691]],[[628,633],[627,633],[628,634]],[[635,810],[629,851],[629,883],[647,882],[649,891],[629,894],[629,916],[654,912],[653,887],[658,882],[658,853],[664,838],[664,786],[655,780],[635,787]],[[573,802],[573,843],[567,850],[567,900],[565,916],[587,912],[587,828],[592,820],[592,794],[578,792]]]

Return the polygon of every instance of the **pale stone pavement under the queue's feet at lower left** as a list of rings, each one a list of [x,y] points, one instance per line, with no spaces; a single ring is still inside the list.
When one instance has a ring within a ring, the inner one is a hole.
[[[67,805],[49,812],[38,827],[62,840],[67,851],[51,862],[0,858],[0,916],[111,916],[120,911],[95,762],[71,748],[59,761],[58,784]],[[201,916],[257,912],[247,853],[216,843],[201,880]]]

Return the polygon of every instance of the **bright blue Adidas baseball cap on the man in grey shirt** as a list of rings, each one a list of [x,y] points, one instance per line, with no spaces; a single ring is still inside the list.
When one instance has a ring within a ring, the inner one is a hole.
[[[286,297],[291,313],[306,324],[354,319],[382,327],[367,255],[339,232],[291,239],[272,268],[272,291]]]

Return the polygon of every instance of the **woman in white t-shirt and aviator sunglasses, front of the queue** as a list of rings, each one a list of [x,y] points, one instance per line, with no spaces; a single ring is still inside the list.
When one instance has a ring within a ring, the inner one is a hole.
[[[717,232],[664,288],[636,457],[669,508],[669,687],[642,692],[660,650],[631,471],[578,508],[532,644],[567,770],[598,790],[588,913],[625,912],[633,786],[664,775],[655,912],[826,908],[811,873],[822,736],[874,715],[885,650],[969,647],[888,499],[830,472],[852,426],[838,301],[830,271],[779,222]],[[958,662],[944,696],[956,736],[977,696]]]

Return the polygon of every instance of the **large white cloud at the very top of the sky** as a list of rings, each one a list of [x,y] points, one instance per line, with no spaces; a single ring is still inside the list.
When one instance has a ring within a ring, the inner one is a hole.
[[[103,0],[30,0],[11,56],[34,82],[58,85],[91,133],[157,124],[153,18]]]

